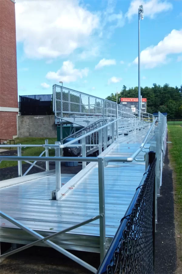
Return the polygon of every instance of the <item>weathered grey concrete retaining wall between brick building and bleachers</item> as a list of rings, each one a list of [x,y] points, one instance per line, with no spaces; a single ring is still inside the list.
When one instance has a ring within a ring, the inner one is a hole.
[[[17,115],[18,137],[57,137],[54,115]]]

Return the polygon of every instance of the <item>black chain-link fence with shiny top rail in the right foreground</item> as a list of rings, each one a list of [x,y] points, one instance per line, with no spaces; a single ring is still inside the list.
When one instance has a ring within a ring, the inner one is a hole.
[[[97,273],[154,273],[155,165],[156,158],[136,189]]]

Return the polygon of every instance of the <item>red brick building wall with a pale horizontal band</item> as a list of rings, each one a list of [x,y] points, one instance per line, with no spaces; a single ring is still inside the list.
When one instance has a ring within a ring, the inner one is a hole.
[[[0,138],[17,135],[18,87],[15,2],[0,0]]]

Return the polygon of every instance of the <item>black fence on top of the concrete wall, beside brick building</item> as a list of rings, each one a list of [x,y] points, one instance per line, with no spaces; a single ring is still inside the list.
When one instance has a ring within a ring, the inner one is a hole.
[[[51,115],[52,94],[19,96],[20,115]]]

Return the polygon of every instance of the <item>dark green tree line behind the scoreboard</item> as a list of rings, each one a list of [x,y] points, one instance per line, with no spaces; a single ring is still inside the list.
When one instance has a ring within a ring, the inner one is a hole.
[[[182,86],[174,88],[169,84],[163,86],[153,84],[152,87],[141,87],[141,96],[147,98],[147,112],[167,112],[168,119],[182,118]],[[118,93],[118,104],[120,104],[120,97],[137,98],[138,87],[127,89],[123,85],[122,90]],[[116,102],[116,93],[111,93],[106,97],[107,100]]]

